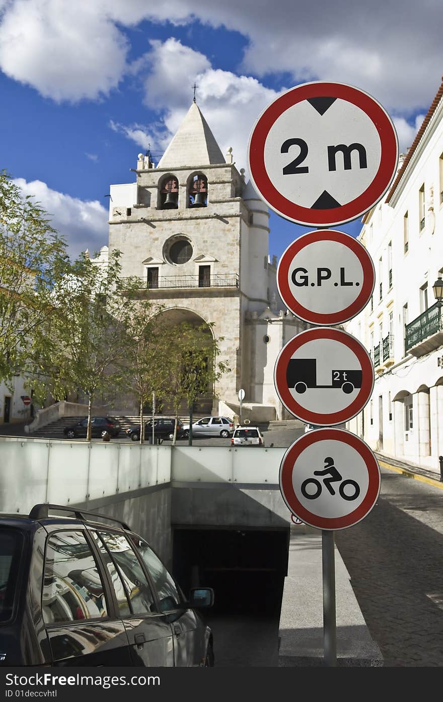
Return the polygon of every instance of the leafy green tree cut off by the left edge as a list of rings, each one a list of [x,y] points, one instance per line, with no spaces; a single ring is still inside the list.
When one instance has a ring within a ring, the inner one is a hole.
[[[0,172],[0,382],[25,374],[29,348],[51,312],[51,289],[67,265],[66,243],[47,213]],[[39,337],[41,338],[41,337]]]

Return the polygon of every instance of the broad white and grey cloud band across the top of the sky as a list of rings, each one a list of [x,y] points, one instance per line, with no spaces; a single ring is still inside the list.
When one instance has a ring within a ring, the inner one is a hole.
[[[248,39],[239,72],[286,72],[292,84],[350,83],[406,116],[430,104],[443,65],[436,0],[318,0],[315,6],[300,0],[206,0],[198,6],[194,0],[0,0],[0,13],[1,6],[0,68],[58,101],[97,99],[116,88],[130,70],[125,28],[144,19],[225,25]],[[183,65],[169,74],[186,83],[192,77],[185,65],[197,73],[208,69],[197,52],[190,57],[183,49],[180,59]],[[171,84],[152,88],[174,101]]]

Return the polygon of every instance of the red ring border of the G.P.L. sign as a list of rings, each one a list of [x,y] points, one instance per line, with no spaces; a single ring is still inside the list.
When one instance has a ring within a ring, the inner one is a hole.
[[[298,300],[291,293],[289,287],[289,267],[301,249],[316,241],[337,241],[338,244],[348,246],[348,249],[351,249],[351,251],[355,253],[362,265],[362,289],[354,302],[348,305],[348,307],[345,307],[344,310],[340,310],[340,312],[330,312],[328,314],[312,312],[312,310],[308,310],[307,307],[300,305]],[[280,297],[286,307],[288,307],[293,314],[296,314],[296,317],[300,317],[300,319],[304,319],[305,322],[309,322],[310,324],[327,326],[328,324],[348,322],[349,319],[355,317],[369,303],[375,284],[376,272],[373,266],[373,260],[367,249],[365,249],[363,244],[357,241],[357,239],[351,237],[350,234],[338,232],[337,230],[323,229],[302,234],[289,244],[287,249],[283,252],[282,258],[280,258],[279,265],[277,266],[277,288]]]

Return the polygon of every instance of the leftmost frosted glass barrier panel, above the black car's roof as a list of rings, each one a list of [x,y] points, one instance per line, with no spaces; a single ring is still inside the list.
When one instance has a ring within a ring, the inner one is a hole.
[[[8,440],[0,446],[0,511],[28,514],[46,501],[47,442]]]

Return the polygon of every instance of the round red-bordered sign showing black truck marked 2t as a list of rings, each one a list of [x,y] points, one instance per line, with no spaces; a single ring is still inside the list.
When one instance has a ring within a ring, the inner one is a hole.
[[[347,332],[307,329],[279,352],[274,383],[291,414],[331,426],[362,411],[373,390],[373,364],[362,343]]]

